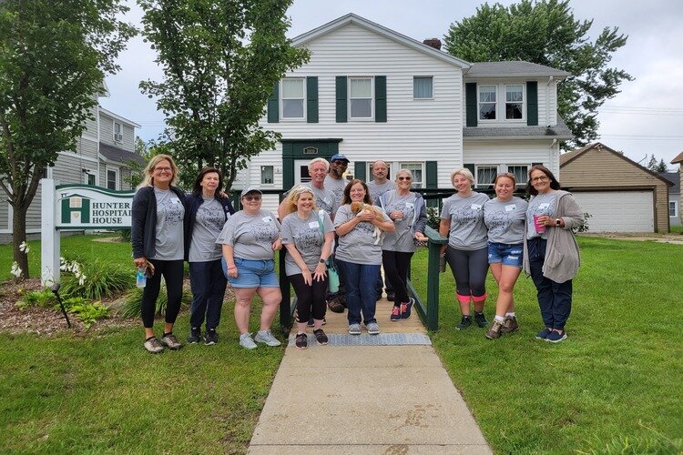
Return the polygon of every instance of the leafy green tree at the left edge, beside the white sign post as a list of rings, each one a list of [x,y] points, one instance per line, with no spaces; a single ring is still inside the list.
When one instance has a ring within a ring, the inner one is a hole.
[[[0,188],[14,209],[14,258],[28,278],[26,210],[57,153],[75,151],[104,75],[136,29],[121,0],[0,2]]]

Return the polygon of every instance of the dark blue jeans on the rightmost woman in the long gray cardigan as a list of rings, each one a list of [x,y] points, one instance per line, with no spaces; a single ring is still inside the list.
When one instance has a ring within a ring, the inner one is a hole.
[[[527,241],[531,278],[534,280],[538,307],[541,308],[541,318],[545,327],[564,330],[566,319],[569,319],[569,313],[572,311],[572,280],[556,283],[543,276],[546,244],[545,238],[532,238]]]

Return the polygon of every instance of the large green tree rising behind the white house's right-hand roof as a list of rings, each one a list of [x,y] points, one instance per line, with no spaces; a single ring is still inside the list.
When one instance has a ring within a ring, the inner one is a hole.
[[[484,4],[475,15],[454,22],[444,42],[450,54],[470,62],[525,60],[571,73],[557,86],[559,114],[575,136],[562,145],[570,150],[596,139],[597,108],[619,93],[622,81],[633,80],[607,66],[627,36],[618,27],[605,27],[590,41],[591,25],[592,20],[575,19],[569,0]]]

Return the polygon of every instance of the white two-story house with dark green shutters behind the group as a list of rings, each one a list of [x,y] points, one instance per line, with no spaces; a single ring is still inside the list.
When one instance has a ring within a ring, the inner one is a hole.
[[[501,171],[525,181],[542,163],[559,171],[556,84],[569,76],[528,62],[470,64],[358,15],[344,15],[292,40],[308,64],[274,87],[260,125],[282,138],[253,157],[235,187],[289,188],[313,157],[343,153],[348,173],[371,179],[382,159],[390,177],[413,170],[414,185],[451,187],[455,167],[488,186]],[[267,197],[264,208],[274,208]]]

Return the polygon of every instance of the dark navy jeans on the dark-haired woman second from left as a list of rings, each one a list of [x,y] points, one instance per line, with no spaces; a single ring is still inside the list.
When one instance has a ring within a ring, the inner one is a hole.
[[[201,327],[205,314],[207,330],[219,326],[220,309],[223,308],[227,284],[220,259],[189,263],[189,286],[192,288],[190,327]]]

